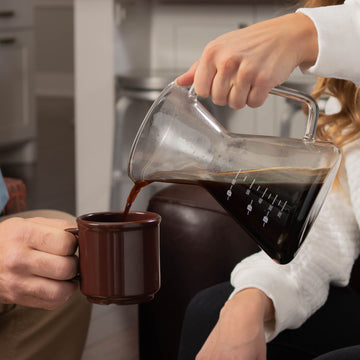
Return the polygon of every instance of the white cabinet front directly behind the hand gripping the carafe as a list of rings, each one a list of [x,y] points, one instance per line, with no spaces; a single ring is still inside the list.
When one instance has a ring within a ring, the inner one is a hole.
[[[254,23],[254,6],[154,4],[151,66],[187,69],[212,39]]]

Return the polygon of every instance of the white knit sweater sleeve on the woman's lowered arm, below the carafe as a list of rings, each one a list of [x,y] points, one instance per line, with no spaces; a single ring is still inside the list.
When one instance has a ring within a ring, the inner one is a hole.
[[[256,287],[272,299],[275,320],[265,324],[267,341],[286,328],[299,327],[322,306],[330,283],[345,286],[349,281],[360,243],[360,143],[345,154],[349,193],[331,191],[295,259],[278,265],[260,252],[231,274],[233,294]]]

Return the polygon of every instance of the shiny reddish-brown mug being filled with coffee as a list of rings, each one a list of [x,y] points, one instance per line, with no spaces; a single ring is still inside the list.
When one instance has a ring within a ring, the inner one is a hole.
[[[77,229],[66,229],[79,241],[80,289],[96,304],[138,304],[160,288],[158,214],[99,212],[81,215]]]

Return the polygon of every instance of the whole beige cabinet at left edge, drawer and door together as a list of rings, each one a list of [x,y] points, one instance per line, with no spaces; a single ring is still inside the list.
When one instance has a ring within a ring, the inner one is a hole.
[[[0,1],[0,161],[36,135],[32,2]],[[29,157],[28,157],[29,158]],[[15,160],[15,159],[13,159]],[[23,159],[16,159],[22,161]]]

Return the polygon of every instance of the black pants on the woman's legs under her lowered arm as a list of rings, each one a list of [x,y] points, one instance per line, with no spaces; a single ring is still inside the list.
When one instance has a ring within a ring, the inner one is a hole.
[[[229,282],[222,283],[203,290],[190,302],[178,360],[195,359],[232,290]],[[349,288],[331,287],[326,304],[299,329],[283,331],[268,343],[267,359],[359,360],[360,295]]]

